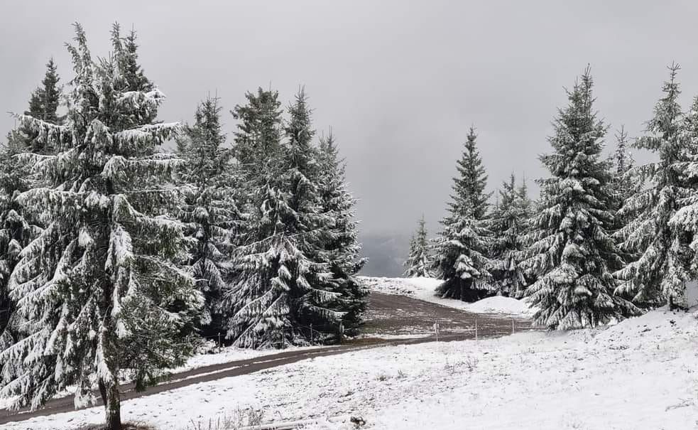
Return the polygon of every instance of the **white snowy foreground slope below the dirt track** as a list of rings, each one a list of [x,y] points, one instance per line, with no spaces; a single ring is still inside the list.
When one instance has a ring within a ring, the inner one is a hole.
[[[237,410],[274,421],[362,416],[366,429],[667,429],[698,427],[698,319],[653,311],[606,330],[391,346],[315,358],[124,402],[159,429]],[[101,408],[6,424],[98,423]]]

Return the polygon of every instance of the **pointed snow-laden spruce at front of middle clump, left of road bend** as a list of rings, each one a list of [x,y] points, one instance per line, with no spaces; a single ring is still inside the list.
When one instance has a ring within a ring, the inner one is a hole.
[[[305,329],[310,324],[336,333],[345,315],[334,308],[342,293],[333,291],[329,267],[316,257],[331,220],[322,213],[317,149],[311,144],[315,131],[302,90],[288,113],[287,141],[253,189],[245,244],[236,248],[228,330],[236,345],[307,343],[314,333]]]

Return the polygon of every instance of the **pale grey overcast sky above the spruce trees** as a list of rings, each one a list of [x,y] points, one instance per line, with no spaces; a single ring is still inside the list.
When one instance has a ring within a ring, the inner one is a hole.
[[[474,124],[494,189],[511,171],[545,174],[537,155],[587,63],[596,107],[637,136],[665,66],[698,93],[697,1],[4,1],[0,107],[21,112],[53,56],[70,79],[71,23],[106,55],[114,21],[135,26],[146,74],[168,95],[165,121],[190,121],[207,93],[228,109],[305,85],[317,129],[332,126],[364,232],[433,231]],[[0,132],[13,127],[0,115]],[[609,139],[612,142],[613,139]],[[641,156],[640,156],[641,158]]]

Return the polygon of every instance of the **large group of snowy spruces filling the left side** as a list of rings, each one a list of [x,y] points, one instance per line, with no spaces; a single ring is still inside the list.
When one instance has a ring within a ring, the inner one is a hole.
[[[0,151],[0,396],[38,407],[76,386],[85,404],[97,385],[120,429],[120,378],[156,383],[202,335],[258,348],[356,331],[355,200],[305,92],[285,110],[246,94],[229,145],[216,97],[190,125],[158,121],[135,32],[115,25],[93,58],[75,30],[67,90],[52,60]]]

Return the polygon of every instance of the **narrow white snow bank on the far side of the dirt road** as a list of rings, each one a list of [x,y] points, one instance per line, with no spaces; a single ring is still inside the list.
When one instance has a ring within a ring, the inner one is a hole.
[[[465,303],[464,301],[453,299],[441,299],[434,295],[434,290],[440,279],[432,278],[381,278],[372,276],[362,276],[369,289],[385,294],[398,294],[410,296],[415,299],[437,303],[449,308],[458,308],[473,313],[501,313],[506,315],[518,315],[530,317],[535,313],[535,308],[528,306],[523,300],[511,297],[495,296],[476,301],[475,303]]]

